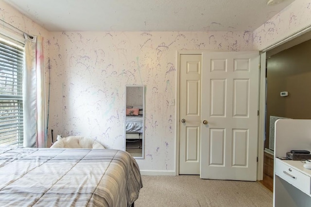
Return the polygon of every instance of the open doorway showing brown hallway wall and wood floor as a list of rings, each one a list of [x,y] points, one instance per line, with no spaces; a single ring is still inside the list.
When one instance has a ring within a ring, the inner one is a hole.
[[[300,41],[299,41],[300,39]],[[262,184],[273,191],[275,118],[311,119],[310,32],[267,51],[267,90]],[[303,41],[303,42],[301,42]],[[281,96],[281,92],[288,92]],[[284,155],[285,157],[286,155]]]

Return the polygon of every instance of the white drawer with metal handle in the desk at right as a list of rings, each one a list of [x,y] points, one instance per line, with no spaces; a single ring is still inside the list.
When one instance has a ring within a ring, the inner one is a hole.
[[[301,191],[311,194],[311,177],[295,170],[290,165],[276,159],[276,175],[286,180]]]

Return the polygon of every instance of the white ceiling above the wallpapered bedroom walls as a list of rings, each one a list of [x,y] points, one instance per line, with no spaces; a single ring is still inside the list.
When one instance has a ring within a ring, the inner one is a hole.
[[[48,31],[254,31],[294,0],[4,0]]]

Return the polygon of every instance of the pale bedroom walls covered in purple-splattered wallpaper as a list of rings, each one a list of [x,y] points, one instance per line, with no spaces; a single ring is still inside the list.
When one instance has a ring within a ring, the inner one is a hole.
[[[123,149],[124,85],[143,84],[145,159],[137,160],[139,167],[173,172],[176,108],[169,101],[176,96],[176,51],[260,50],[309,25],[310,3],[294,1],[254,33],[47,32],[2,1],[0,14],[45,38],[47,80],[51,69],[49,133],[91,137]]]

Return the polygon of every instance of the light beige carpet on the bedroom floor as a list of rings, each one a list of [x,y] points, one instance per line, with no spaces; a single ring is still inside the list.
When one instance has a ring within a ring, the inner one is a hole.
[[[272,207],[273,193],[259,182],[207,180],[199,175],[142,175],[135,207]]]

